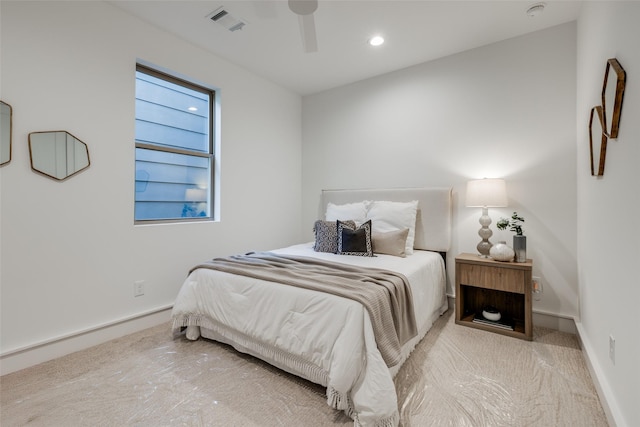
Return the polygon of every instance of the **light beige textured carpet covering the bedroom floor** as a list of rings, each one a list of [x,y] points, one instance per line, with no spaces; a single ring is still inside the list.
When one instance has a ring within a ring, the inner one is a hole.
[[[324,389],[169,325],[0,378],[3,427],[335,426]],[[577,339],[527,342],[453,322],[449,310],[396,378],[401,425],[606,426]]]

